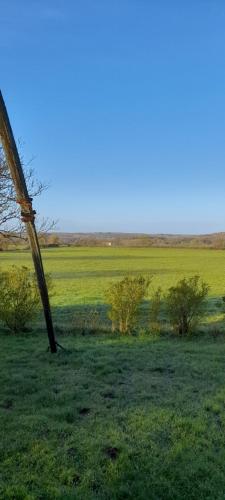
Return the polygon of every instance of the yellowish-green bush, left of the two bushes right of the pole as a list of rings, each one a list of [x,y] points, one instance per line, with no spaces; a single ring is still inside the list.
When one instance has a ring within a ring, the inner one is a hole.
[[[113,283],[106,291],[106,303],[110,306],[109,318],[112,330],[125,334],[137,323],[139,306],[147,294],[150,279],[144,276],[126,276]]]

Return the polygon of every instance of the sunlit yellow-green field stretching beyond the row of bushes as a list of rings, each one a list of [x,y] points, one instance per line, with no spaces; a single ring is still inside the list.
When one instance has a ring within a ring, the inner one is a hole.
[[[225,252],[193,249],[61,248],[42,251],[44,266],[54,282],[55,321],[70,324],[84,304],[101,304],[110,282],[126,273],[153,276],[152,287],[166,290],[184,276],[200,276],[210,285],[209,316],[218,319],[218,299],[225,294]],[[1,267],[32,267],[29,252],[2,252]],[[151,293],[150,288],[150,293]]]

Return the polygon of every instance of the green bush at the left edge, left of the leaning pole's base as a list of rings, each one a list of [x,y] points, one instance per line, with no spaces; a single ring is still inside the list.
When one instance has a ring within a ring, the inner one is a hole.
[[[23,331],[39,305],[36,279],[27,267],[12,266],[0,272],[0,320],[12,332]]]

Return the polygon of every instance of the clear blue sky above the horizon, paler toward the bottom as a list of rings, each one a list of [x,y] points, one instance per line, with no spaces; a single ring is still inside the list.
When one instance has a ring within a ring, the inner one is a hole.
[[[15,137],[58,230],[225,230],[224,0],[0,0]]]

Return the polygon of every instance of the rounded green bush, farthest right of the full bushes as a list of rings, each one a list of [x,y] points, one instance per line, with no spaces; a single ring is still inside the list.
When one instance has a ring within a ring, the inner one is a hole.
[[[183,278],[176,286],[169,288],[166,297],[166,311],[175,331],[188,334],[204,314],[205,298],[209,286],[199,276]]]

